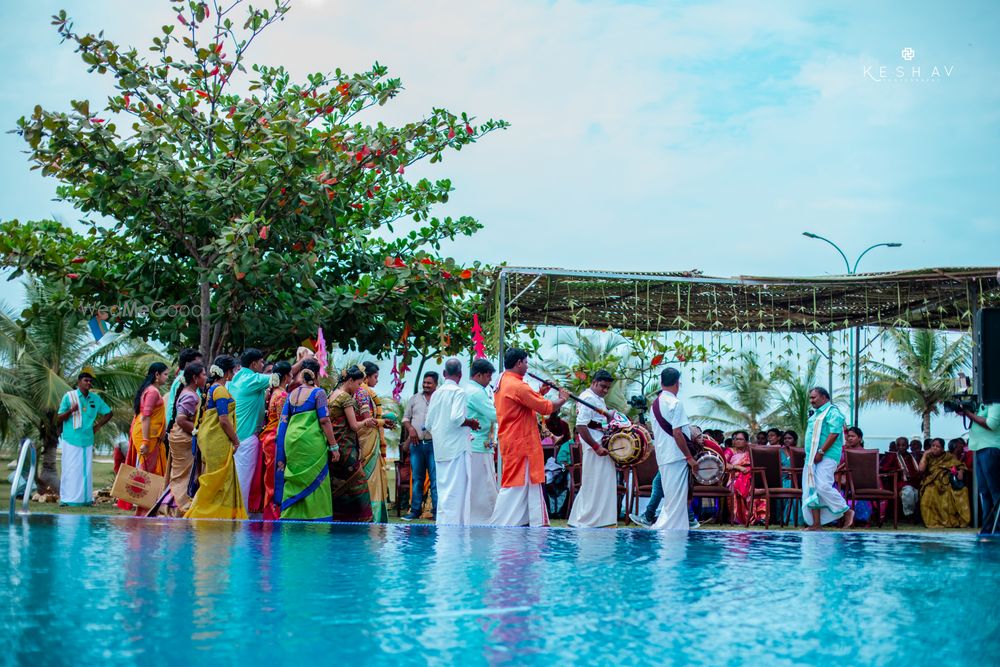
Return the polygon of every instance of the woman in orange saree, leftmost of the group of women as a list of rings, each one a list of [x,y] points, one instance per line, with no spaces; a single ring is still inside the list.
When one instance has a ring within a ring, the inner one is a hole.
[[[167,448],[163,436],[167,430],[167,411],[160,394],[160,387],[167,382],[167,365],[159,361],[149,365],[146,377],[132,401],[132,426],[129,429],[129,448],[125,463],[155,475],[166,475]],[[130,510],[134,506],[118,500],[118,507]],[[146,510],[136,508],[136,516]]]

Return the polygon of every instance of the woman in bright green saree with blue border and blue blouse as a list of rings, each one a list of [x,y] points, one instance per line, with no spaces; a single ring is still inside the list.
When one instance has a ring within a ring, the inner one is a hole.
[[[284,401],[275,438],[274,502],[282,519],[329,521],[327,461],[340,457],[340,447],[330,426],[326,391],[316,386],[319,362],[301,363],[298,386]]]

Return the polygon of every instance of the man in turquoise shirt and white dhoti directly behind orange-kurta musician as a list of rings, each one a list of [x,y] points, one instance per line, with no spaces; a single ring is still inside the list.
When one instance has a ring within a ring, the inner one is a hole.
[[[469,521],[473,525],[490,522],[500,490],[497,469],[493,463],[493,428],[497,423],[497,409],[487,388],[493,384],[496,368],[486,359],[476,359],[469,367],[472,382],[465,388],[466,416],[479,422],[472,431],[469,453],[469,479],[471,498]]]

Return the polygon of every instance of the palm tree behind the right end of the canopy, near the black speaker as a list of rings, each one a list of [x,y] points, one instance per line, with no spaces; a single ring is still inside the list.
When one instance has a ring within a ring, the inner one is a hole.
[[[961,335],[952,341],[929,329],[887,332],[899,366],[867,360],[861,402],[906,406],[920,415],[924,438],[931,437],[931,415],[954,393],[954,379],[969,368],[972,345]]]

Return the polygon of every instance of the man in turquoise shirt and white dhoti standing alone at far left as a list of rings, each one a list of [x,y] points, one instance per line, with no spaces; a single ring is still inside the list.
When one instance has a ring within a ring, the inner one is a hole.
[[[76,389],[66,392],[56,413],[56,421],[62,424],[60,505],[94,503],[94,434],[111,421],[112,414],[108,404],[90,390],[93,381],[88,371],[80,373]]]

